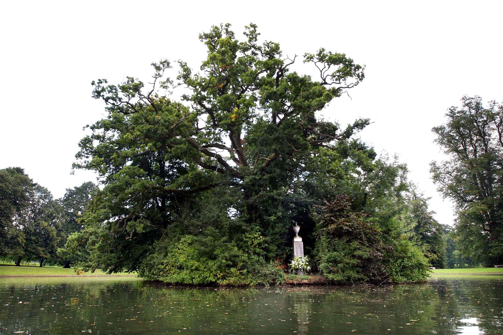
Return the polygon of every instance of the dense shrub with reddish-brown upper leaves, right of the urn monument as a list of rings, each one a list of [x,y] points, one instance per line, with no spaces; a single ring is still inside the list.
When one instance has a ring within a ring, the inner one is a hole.
[[[319,270],[339,284],[414,282],[428,277],[428,261],[408,240],[383,234],[351,200],[339,195],[322,208],[316,257]]]

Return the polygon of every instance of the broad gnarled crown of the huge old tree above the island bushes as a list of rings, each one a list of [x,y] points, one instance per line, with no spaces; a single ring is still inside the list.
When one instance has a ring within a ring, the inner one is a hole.
[[[208,51],[202,72],[179,64],[178,80],[189,89],[184,95],[188,105],[155,92],[159,85],[172,83],[161,81],[171,67],[168,61],[153,64],[150,88],[132,77],[117,86],[105,79],[93,82],[94,96],[104,99],[108,117],[92,125],[93,135],[80,141],[75,166],[96,169],[106,184],[136,185],[133,194],[116,199],[128,204],[112,224],[124,227],[130,239],[152,228],[145,215],[152,207],[165,215],[172,212],[170,206],[180,205],[174,199],[180,202],[217,186],[234,187],[243,194],[234,209],[260,228],[272,255],[291,218],[282,218],[279,225],[271,222],[270,208],[277,206],[261,206],[257,200],[276,201],[263,192],[288,187],[308,157],[368,124],[358,120],[340,129],[315,116],[363,80],[363,67],[351,58],[324,49],[306,53],[304,61],[319,70],[315,80],[291,71],[297,57],[284,57],[278,43],[260,44],[255,25],[246,27],[244,35],[245,41],[237,40],[230,25],[200,34]]]

